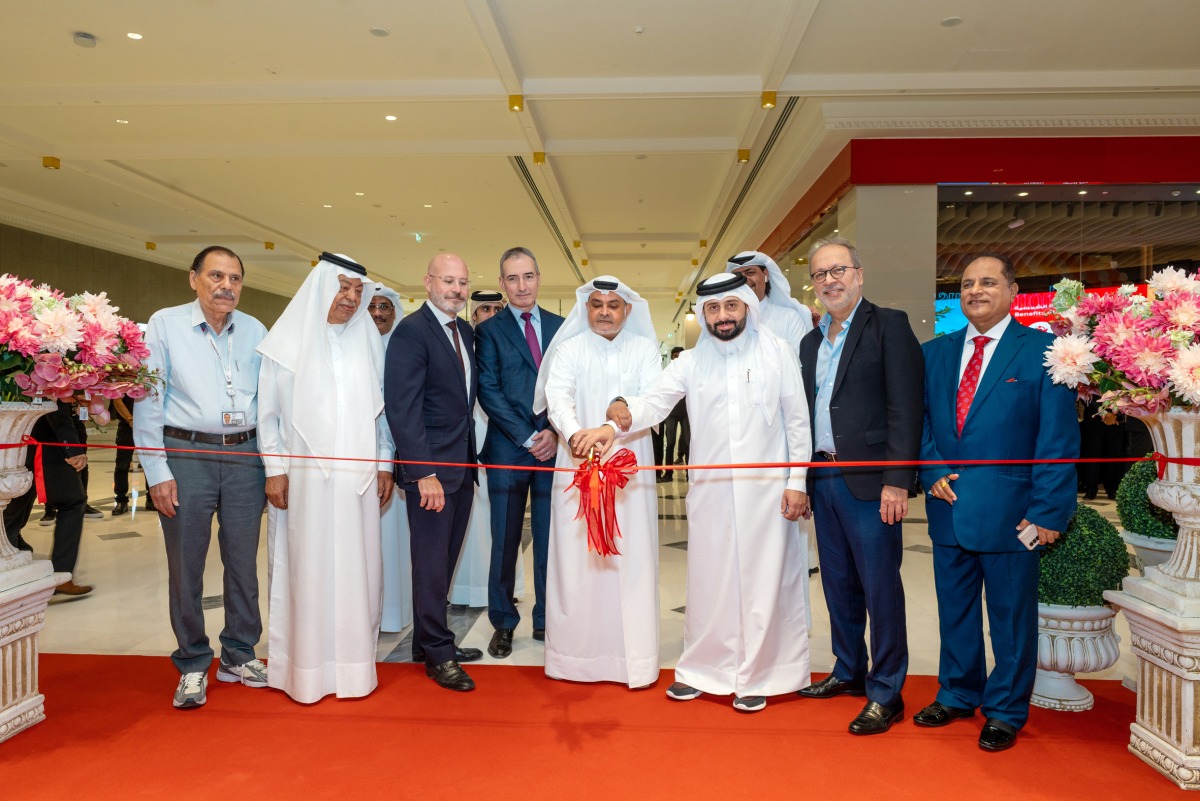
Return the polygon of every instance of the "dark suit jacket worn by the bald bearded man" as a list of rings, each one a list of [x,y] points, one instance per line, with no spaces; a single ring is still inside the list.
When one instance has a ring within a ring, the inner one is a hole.
[[[396,458],[410,462],[475,463],[475,339],[470,326],[455,318],[462,339],[462,357],[470,360],[470,387],[446,329],[428,305],[396,324],[388,343],[383,397],[388,426],[396,442]],[[469,392],[468,392],[469,390]],[[416,492],[416,481],[436,475],[446,493],[464,480],[475,481],[475,468],[401,464],[400,482]]]

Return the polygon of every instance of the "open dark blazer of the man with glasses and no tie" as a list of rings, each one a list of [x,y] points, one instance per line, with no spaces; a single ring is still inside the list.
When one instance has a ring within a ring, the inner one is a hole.
[[[804,395],[816,447],[816,374],[822,333],[800,341]],[[829,422],[839,459],[916,462],[925,414],[925,360],[908,315],[881,308],[865,297],[854,313],[829,402]],[[822,468],[829,469],[829,468]],[[809,492],[812,492],[809,472]],[[842,468],[859,500],[878,500],[884,484],[908,489],[916,468]]]

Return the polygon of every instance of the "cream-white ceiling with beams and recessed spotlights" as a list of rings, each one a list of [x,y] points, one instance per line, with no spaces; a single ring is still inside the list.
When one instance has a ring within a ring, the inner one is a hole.
[[[851,138],[1200,132],[1198,30],[1198,0],[8,0],[0,221],[178,267],[227,243],[281,294],[322,249],[491,288],[526,245],[551,307],[611,272],[666,337]]]

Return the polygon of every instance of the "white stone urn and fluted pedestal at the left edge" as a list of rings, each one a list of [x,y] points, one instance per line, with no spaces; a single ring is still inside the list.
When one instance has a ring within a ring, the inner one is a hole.
[[[0,445],[19,442],[53,409],[53,403],[0,403]],[[0,513],[32,481],[25,450],[0,448]],[[68,578],[48,560],[13,548],[0,522],[0,742],[46,717],[37,691],[37,634],[54,588]]]

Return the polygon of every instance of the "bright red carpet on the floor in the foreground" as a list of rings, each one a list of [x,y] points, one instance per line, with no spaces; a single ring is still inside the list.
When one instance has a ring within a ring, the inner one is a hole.
[[[1034,709],[1013,749],[986,754],[980,718],[854,737],[860,699],[793,695],[742,715],[727,698],[668,700],[670,671],[630,692],[474,667],[479,689],[460,694],[420,666],[380,664],[370,698],[312,706],[214,675],[208,705],[180,712],[167,658],[41,666],[47,719],[0,743],[6,800],[1182,797],[1126,751],[1134,695],[1110,681],[1087,682],[1092,711]],[[910,676],[910,716],[935,686]]]

